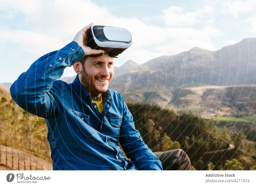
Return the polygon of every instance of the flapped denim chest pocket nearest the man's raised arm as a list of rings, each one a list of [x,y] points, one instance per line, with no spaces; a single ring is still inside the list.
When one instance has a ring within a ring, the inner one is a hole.
[[[90,126],[89,115],[85,115],[75,110],[72,110],[72,111],[75,117],[75,122],[76,122],[75,130],[77,133],[82,134],[86,137],[90,137],[96,134],[97,130],[95,130],[94,128],[92,128],[92,126]]]

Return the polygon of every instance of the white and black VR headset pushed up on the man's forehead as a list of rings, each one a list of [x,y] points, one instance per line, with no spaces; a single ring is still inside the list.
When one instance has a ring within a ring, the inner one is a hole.
[[[93,25],[87,35],[88,47],[102,49],[110,56],[116,57],[132,45],[131,33],[125,28]],[[89,55],[88,57],[102,56]]]

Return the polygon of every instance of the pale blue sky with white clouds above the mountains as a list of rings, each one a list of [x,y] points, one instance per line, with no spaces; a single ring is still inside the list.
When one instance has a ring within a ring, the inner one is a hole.
[[[255,0],[0,0],[0,83],[94,25],[126,28],[132,46],[115,59],[143,64],[199,47],[216,51],[255,38]],[[72,67],[62,77],[74,76]]]

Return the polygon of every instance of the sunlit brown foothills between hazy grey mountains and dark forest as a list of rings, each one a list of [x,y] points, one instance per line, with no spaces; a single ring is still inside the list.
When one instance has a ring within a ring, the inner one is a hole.
[[[133,82],[132,82],[133,83]],[[125,100],[149,103],[175,110],[176,112],[196,113],[202,117],[255,115],[256,92],[248,94],[251,85],[236,86],[191,86],[181,85],[173,88],[149,84],[147,89],[132,85],[125,92],[125,85],[111,86],[121,93]],[[171,90],[171,91],[170,91]],[[248,102],[248,103],[247,103]]]

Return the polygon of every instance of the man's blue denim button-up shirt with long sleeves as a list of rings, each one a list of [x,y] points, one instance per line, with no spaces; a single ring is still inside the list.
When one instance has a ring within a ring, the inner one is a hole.
[[[102,94],[101,117],[78,76],[71,84],[56,80],[83,57],[84,50],[72,41],[37,59],[10,87],[21,108],[45,118],[53,170],[163,170],[120,93],[108,88]]]

